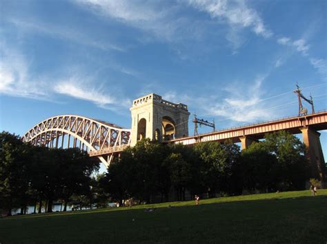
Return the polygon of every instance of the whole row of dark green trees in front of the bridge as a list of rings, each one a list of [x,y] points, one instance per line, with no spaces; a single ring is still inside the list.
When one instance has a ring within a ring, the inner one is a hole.
[[[308,180],[306,148],[284,131],[266,135],[245,151],[232,142],[195,146],[162,144],[143,139],[126,148],[108,168],[77,148],[49,149],[24,144],[19,137],[0,134],[0,208],[10,210],[46,201],[79,206],[107,206],[131,197],[146,203],[186,199],[190,195],[240,195],[242,190],[275,192],[304,188]],[[161,198],[161,199],[159,199]]]

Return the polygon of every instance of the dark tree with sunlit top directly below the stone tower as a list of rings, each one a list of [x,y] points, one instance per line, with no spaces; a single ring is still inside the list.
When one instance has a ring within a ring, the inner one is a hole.
[[[164,144],[143,139],[121,153],[101,184],[120,202],[130,197],[151,202],[158,192],[167,195],[170,189],[168,168],[164,164],[167,154]]]

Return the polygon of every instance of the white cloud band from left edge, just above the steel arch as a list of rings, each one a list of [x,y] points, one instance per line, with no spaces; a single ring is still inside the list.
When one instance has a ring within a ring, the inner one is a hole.
[[[9,96],[53,101],[54,95],[60,93],[72,98],[88,100],[104,109],[115,110],[117,107],[130,107],[130,100],[114,98],[110,94],[95,89],[94,80],[90,78],[63,78],[56,82],[53,78],[38,77],[30,74],[27,58],[16,49],[3,47],[0,50],[0,93]],[[89,82],[89,81],[92,82]],[[54,86],[52,84],[55,84]],[[110,105],[110,106],[108,106]]]

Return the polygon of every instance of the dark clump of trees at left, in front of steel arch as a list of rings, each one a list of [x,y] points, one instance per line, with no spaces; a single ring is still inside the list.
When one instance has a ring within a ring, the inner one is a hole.
[[[29,204],[65,201],[65,210],[73,194],[88,195],[91,174],[99,169],[99,162],[77,148],[49,149],[23,143],[16,135],[0,133],[0,208],[11,213]]]

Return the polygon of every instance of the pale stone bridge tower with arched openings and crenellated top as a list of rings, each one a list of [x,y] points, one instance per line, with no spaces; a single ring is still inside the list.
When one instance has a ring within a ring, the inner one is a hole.
[[[159,142],[188,136],[188,107],[163,100],[152,93],[133,101],[130,145],[142,138]]]

